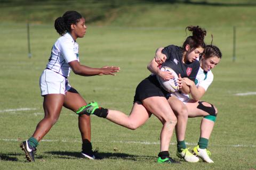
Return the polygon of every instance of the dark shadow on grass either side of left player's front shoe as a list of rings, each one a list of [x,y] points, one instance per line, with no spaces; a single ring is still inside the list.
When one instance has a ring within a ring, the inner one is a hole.
[[[74,158],[81,158],[81,152],[69,152],[69,151],[50,151],[45,152],[46,154],[55,155],[58,158],[63,159],[74,159]],[[97,152],[95,156],[98,159],[124,159],[124,160],[134,160],[137,161],[139,159],[153,159],[154,156],[140,156],[140,155],[130,155],[124,153],[111,153],[111,152]]]

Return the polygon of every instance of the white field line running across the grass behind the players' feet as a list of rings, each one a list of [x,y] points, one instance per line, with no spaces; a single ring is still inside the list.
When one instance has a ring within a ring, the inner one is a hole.
[[[18,142],[21,141],[20,139],[0,139],[0,141],[11,141],[11,142]],[[42,142],[76,142],[76,143],[81,143],[81,140],[50,140],[50,139],[43,139],[41,140]],[[106,141],[94,141],[94,142],[106,142]],[[110,143],[125,143],[125,144],[141,144],[141,145],[160,145],[160,142],[149,142],[149,141],[110,141]],[[170,145],[177,145],[177,143],[171,142]],[[189,146],[195,146],[197,143],[190,143],[186,142],[186,145]],[[220,147],[256,147],[256,145],[242,145],[242,144],[237,144],[237,145],[212,145],[212,146],[220,146]]]

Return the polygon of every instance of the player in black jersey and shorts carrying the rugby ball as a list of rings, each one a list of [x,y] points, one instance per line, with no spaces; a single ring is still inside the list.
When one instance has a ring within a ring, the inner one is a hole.
[[[187,74],[195,77],[199,69],[199,63],[196,62],[196,58],[199,56],[199,53],[203,52],[203,48],[205,47],[204,36],[206,35],[206,31],[198,26],[191,26],[187,28],[189,31],[193,32],[193,36],[187,37],[182,47],[170,47],[177,51],[177,53],[175,52],[175,55],[177,55],[177,61],[179,60],[178,64],[183,63],[180,73],[182,75]],[[167,48],[166,53],[168,53],[171,48]],[[174,50],[172,52],[174,52]],[[154,61],[155,59],[150,62],[148,68],[151,64],[157,65],[157,63],[154,63]],[[176,61],[174,61],[174,63],[175,62]],[[177,69],[179,68],[177,67]],[[173,75],[170,72],[162,72],[157,69],[155,73],[164,79],[173,78]],[[182,82],[180,83],[182,90],[186,91],[189,89],[188,87],[183,87]],[[167,99],[165,98],[166,94],[167,92],[161,88],[159,82],[157,81],[156,75],[149,75],[149,77],[142,80],[136,88],[133,101],[134,104],[129,116],[120,111],[99,108],[97,103],[89,104],[81,113],[94,114],[99,117],[104,117],[111,122],[133,130],[144,124],[151,114],[154,114],[163,124],[160,135],[161,148],[158,154],[157,162],[178,163],[169,155],[169,145],[173,130],[177,123],[177,117],[174,115]]]

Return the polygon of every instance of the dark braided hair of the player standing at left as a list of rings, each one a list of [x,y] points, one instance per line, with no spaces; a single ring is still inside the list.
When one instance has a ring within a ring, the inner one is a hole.
[[[83,16],[76,11],[67,11],[55,20],[54,28],[60,36],[63,36],[66,32],[71,31],[70,25],[76,24],[82,17]]]

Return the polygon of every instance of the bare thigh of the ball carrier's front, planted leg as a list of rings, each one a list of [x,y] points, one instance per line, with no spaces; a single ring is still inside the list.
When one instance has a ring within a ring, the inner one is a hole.
[[[171,106],[169,105],[165,97],[149,97],[142,100],[142,104],[162,123],[166,121],[177,122],[177,118],[174,115]]]

